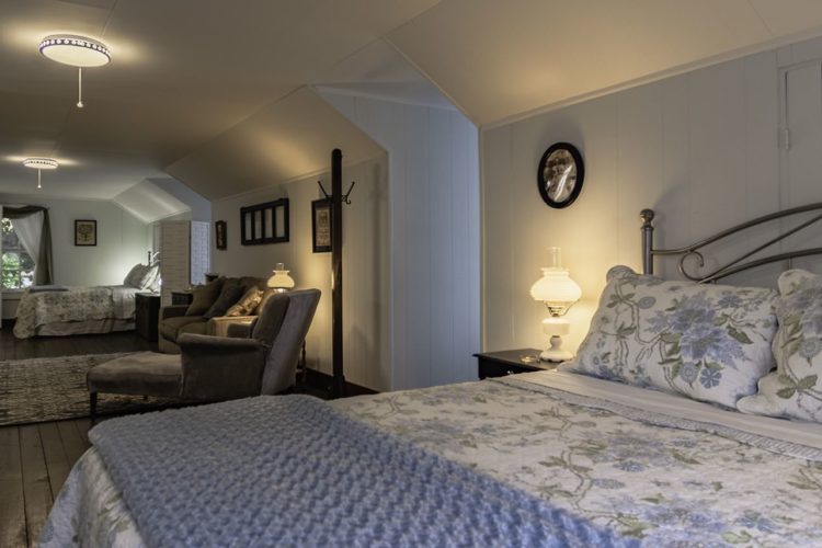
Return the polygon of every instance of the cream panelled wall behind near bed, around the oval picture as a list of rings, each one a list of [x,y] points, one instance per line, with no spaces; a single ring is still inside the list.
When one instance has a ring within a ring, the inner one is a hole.
[[[780,68],[814,57],[822,57],[820,41],[484,129],[483,347],[546,345],[539,323],[545,310],[528,297],[528,288],[549,246],[562,247],[564,263],[583,289],[584,300],[569,312],[573,333],[567,341],[575,349],[606,271],[619,263],[641,266],[640,209],[658,212],[658,243],[671,248],[798,199],[822,199],[819,176],[791,179],[780,170],[778,146]],[[819,92],[810,100],[819,107]],[[803,138],[794,132],[794,146]],[[586,175],[572,206],[550,209],[537,194],[536,169],[545,149],[560,140],[580,148]],[[734,243],[720,253],[730,256],[739,249]],[[658,270],[674,273],[672,265]],[[742,278],[773,284],[774,272]]]

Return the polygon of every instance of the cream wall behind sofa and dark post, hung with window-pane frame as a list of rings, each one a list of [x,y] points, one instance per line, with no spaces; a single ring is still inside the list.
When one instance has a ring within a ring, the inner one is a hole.
[[[329,151],[329,164],[330,160]],[[351,205],[343,205],[345,379],[380,391],[389,389],[391,383],[387,164],[383,156],[343,165],[343,190],[356,181]],[[229,276],[267,278],[274,265],[282,262],[297,288],[319,288],[322,297],[306,351],[309,367],[331,374],[331,253],[313,253],[311,249],[311,201],[322,197],[318,180],[331,192],[330,174],[323,173],[214,202],[214,220],[228,222],[228,249],[213,248],[212,270]],[[240,207],[279,197],[289,201],[289,241],[240,246]]]

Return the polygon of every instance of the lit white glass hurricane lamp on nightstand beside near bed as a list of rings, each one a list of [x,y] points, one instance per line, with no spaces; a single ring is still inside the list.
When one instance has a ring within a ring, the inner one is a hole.
[[[582,289],[568,275],[568,270],[562,267],[560,254],[559,248],[548,248],[550,266],[544,267],[543,277],[530,286],[532,298],[541,300],[551,315],[543,320],[543,332],[551,338],[551,346],[539,354],[539,358],[545,362],[564,362],[573,357],[573,354],[562,349],[562,335],[567,335],[571,328],[562,316],[580,300]]]

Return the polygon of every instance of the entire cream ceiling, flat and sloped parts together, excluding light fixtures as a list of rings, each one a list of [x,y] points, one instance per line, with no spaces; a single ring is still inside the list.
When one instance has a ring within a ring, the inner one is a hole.
[[[37,53],[53,33],[113,52],[83,110],[76,71]],[[486,126],[820,34],[819,0],[0,0],[0,192],[34,192],[31,156],[64,165],[43,194],[171,173],[219,197],[368,149],[310,84],[444,105],[419,69]]]

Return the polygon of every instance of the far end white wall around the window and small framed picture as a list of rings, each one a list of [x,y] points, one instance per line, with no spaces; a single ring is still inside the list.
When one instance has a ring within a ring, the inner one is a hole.
[[[148,226],[113,202],[0,194],[0,203],[48,207],[55,284],[122,284],[132,266],[146,262]],[[75,246],[76,219],[98,221],[96,246]],[[3,307],[5,317],[13,313],[14,307]]]

